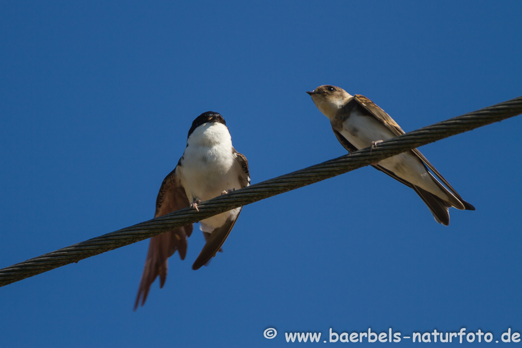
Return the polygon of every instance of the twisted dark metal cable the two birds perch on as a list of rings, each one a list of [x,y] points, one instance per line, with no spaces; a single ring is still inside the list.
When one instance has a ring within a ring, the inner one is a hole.
[[[89,239],[51,253],[0,269],[0,286],[50,271],[54,268],[143,241],[177,227],[194,223],[230,209],[334,177],[401,152],[522,113],[522,97],[411,131],[370,148],[281,175],[267,181],[212,198],[198,205],[199,212],[185,208],[162,217]]]

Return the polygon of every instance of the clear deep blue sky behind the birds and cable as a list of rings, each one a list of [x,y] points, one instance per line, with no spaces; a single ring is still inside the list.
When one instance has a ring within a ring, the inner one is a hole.
[[[0,267],[152,218],[205,111],[257,183],[346,153],[305,93],[319,85],[365,95],[406,131],[518,97],[520,18],[516,1],[2,2]],[[2,346],[521,332],[520,129],[421,148],[477,208],[450,210],[448,227],[365,167],[245,207],[198,271],[195,230],[136,312],[148,241],[2,287]]]

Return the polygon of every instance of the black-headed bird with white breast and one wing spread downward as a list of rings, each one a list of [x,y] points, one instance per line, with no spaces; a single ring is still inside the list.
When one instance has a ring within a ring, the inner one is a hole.
[[[192,207],[221,194],[250,185],[248,162],[244,155],[232,147],[232,139],[223,116],[216,112],[199,115],[188,131],[187,147],[174,170],[161,183],[156,199],[154,217]],[[227,239],[240,208],[215,215],[200,221],[200,230],[206,244],[194,261],[192,269],[205,265]],[[150,285],[160,276],[160,287],[167,278],[168,258],[176,250],[185,259],[187,237],[192,233],[192,224],[150,238],[149,251],[136,296],[134,309],[145,303]]]

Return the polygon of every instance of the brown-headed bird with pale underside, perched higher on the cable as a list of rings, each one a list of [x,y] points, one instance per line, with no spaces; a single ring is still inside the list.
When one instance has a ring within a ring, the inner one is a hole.
[[[360,94],[352,96],[342,88],[330,85],[306,93],[310,94],[317,109],[328,117],[337,140],[349,152],[405,133],[383,109]],[[449,224],[449,207],[475,210],[417,149],[382,160],[373,167],[411,187],[430,208],[435,220],[445,226]]]

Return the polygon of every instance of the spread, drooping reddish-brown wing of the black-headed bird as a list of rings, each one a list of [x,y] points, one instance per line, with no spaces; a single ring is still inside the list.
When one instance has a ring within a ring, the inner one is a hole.
[[[154,217],[180,210],[189,206],[185,189],[180,185],[179,179],[176,177],[176,169],[170,172],[161,183],[158,197],[156,198],[156,213]],[[145,303],[149,293],[150,285],[160,276],[160,287],[163,287],[165,279],[167,279],[167,259],[172,256],[176,250],[180,253],[180,258],[185,259],[187,252],[187,237],[192,233],[192,224],[180,227],[172,231],[162,233],[158,236],[150,238],[149,251],[143,274],[138,287],[138,294],[134,304],[134,310],[138,307],[140,298],[141,305]]]

